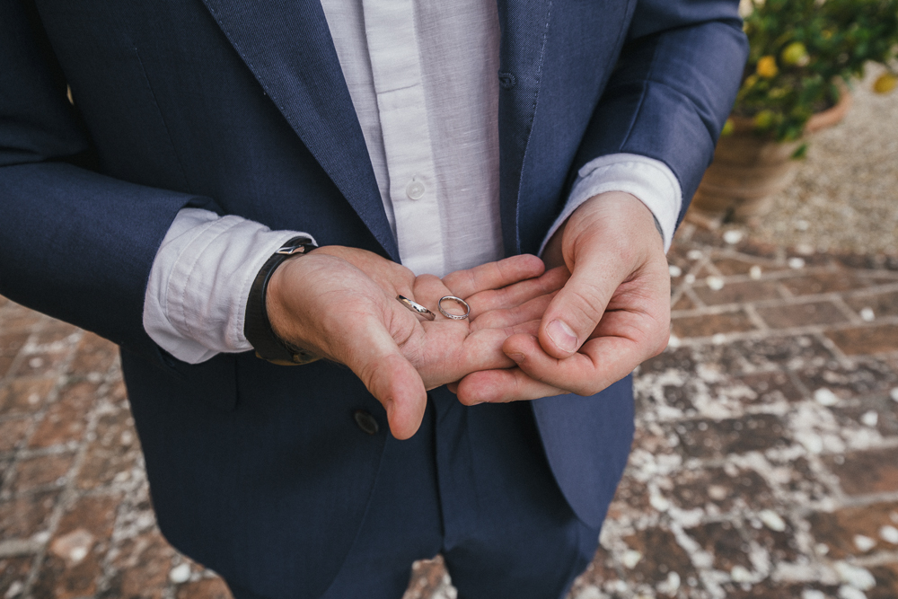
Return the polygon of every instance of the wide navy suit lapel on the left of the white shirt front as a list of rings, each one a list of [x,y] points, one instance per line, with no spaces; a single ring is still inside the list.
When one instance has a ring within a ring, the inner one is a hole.
[[[246,66],[393,260],[399,249],[316,0],[203,0]]]

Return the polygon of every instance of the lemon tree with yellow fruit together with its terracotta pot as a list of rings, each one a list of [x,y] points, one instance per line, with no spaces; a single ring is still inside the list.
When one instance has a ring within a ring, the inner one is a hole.
[[[870,62],[898,77],[898,0],[745,0],[750,54],[714,162],[695,194],[699,221],[751,221],[788,185],[807,138],[839,122]]]

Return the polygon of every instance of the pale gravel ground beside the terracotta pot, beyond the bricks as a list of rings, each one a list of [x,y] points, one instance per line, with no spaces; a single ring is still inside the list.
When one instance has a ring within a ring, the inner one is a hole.
[[[898,92],[854,85],[848,117],[810,140],[795,181],[743,230],[759,242],[811,251],[898,253]]]

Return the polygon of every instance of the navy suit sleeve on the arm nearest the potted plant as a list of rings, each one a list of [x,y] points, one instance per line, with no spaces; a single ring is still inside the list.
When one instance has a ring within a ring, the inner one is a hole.
[[[575,169],[611,154],[665,163],[682,190],[681,222],[732,109],[747,53],[738,2],[639,0]]]

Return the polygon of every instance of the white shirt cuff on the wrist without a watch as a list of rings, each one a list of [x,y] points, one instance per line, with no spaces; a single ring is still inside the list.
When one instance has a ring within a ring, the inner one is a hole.
[[[682,207],[680,181],[677,181],[670,167],[660,160],[638,154],[609,154],[585,163],[577,172],[577,181],[570,190],[568,203],[542,241],[540,254],[551,236],[577,207],[606,191],[625,191],[639,198],[661,225],[665,252],[670,250]]]

